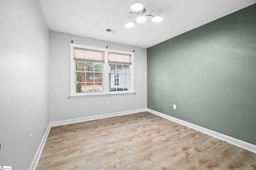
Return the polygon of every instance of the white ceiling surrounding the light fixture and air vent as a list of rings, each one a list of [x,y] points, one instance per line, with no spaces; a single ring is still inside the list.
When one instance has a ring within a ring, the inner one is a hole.
[[[134,0],[40,0],[49,29],[84,37],[148,48],[256,3],[256,0],[140,0],[146,15],[154,10],[163,21],[148,16],[144,23],[129,15]],[[132,11],[133,12],[133,11]],[[106,29],[115,29],[116,33]]]

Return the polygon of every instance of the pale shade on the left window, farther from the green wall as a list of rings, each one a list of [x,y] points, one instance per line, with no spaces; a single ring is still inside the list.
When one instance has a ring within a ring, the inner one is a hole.
[[[74,48],[74,60],[104,62],[104,51]]]

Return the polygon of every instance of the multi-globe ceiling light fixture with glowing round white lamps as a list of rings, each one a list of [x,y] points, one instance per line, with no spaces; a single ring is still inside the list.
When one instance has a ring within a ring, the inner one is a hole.
[[[153,16],[152,14],[154,14],[154,11],[150,11],[149,15],[143,15],[146,12],[146,8],[143,7],[142,2],[140,1],[134,1],[132,2],[132,6],[131,6],[132,10],[134,10],[135,12],[129,12],[130,15],[132,14],[137,14],[137,18],[136,21],[127,21],[125,23],[125,26],[130,28],[134,26],[135,22],[145,22],[147,20],[147,16],[152,16],[152,21],[154,22],[160,22],[163,20],[163,16],[161,15],[155,15]]]

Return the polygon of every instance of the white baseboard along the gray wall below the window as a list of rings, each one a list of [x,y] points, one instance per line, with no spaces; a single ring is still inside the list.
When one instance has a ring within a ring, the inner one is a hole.
[[[116,113],[108,113],[108,114],[104,114],[104,115],[81,117],[81,118],[77,118],[77,119],[53,121],[53,122],[50,122],[50,127],[66,125],[66,124],[70,124],[70,123],[78,123],[78,122],[82,122],[82,121],[89,121],[89,120],[96,120],[96,119],[120,116],[120,115],[128,115],[128,114],[138,113],[138,112],[142,112],[142,111],[146,111],[146,110],[147,110],[146,108],[145,109],[136,109],[136,110],[130,110],[130,111],[120,111],[120,112],[116,112]]]

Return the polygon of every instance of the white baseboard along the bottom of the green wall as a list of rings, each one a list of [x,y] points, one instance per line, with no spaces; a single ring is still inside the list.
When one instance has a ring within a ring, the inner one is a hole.
[[[206,129],[204,127],[200,127],[198,125],[194,125],[193,123],[189,123],[189,122],[186,122],[186,121],[183,121],[183,120],[180,120],[180,119],[177,119],[175,117],[172,117],[172,116],[169,116],[169,115],[166,115],[166,114],[163,114],[163,113],[160,113],[158,111],[154,111],[152,109],[147,109],[148,112],[150,113],[153,113],[155,115],[158,115],[160,117],[163,117],[165,119],[168,119],[170,121],[174,121],[176,123],[179,123],[181,125],[184,125],[186,127],[189,127],[191,129],[195,129],[196,131],[200,131],[202,133],[205,133],[207,135],[210,135],[212,137],[216,137],[220,140],[223,140],[223,141],[226,141],[228,143],[231,143],[233,145],[236,145],[238,147],[241,147],[243,149],[246,149],[246,150],[250,150],[251,152],[254,152],[256,153],[256,145],[252,145],[250,143],[247,143],[247,142],[244,142],[244,141],[241,141],[239,139],[236,139],[236,138],[233,138],[233,137],[230,137],[230,136],[227,136],[227,135],[223,135],[221,133],[218,133],[218,132],[215,132],[215,131],[212,131],[210,129]]]

